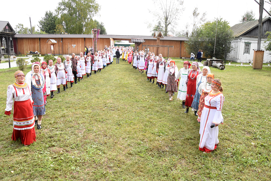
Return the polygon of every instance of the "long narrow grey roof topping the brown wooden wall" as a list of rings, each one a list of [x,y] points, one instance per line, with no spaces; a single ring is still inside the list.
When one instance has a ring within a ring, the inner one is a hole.
[[[15,38],[93,38],[91,34],[16,34]],[[156,40],[153,36],[99,35],[99,38]],[[187,37],[164,37],[163,40],[188,41]]]

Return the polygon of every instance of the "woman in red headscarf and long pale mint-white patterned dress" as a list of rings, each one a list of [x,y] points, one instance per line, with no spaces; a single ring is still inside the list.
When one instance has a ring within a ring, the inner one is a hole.
[[[187,85],[186,85],[186,80],[188,76],[188,71],[190,70],[189,68],[191,67],[191,64],[189,61],[184,61],[183,62],[183,68],[181,68],[176,74],[176,80],[179,78],[179,90],[178,90],[178,95],[177,99],[182,100],[182,108],[185,108],[185,99],[186,99],[186,91],[187,91]]]

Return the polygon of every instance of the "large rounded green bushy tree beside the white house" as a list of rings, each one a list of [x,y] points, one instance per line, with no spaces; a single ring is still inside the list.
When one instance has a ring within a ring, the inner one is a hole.
[[[223,21],[223,19],[220,18],[214,21],[208,21],[199,27],[195,31],[194,36],[189,38],[186,49],[189,53],[193,52],[194,54],[201,49],[207,58],[215,56],[218,59],[224,59],[225,53],[229,54],[232,50],[230,42],[233,38],[233,31],[230,30],[229,22]]]

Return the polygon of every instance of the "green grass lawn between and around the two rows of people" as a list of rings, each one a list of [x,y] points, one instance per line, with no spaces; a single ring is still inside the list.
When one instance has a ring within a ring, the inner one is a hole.
[[[183,62],[177,62],[182,68]],[[0,70],[0,180],[270,180],[271,68],[211,68],[222,81],[224,125],[212,153],[198,150],[197,117],[127,62],[48,98],[36,142],[12,141]],[[24,73],[30,71],[30,65]],[[11,172],[13,171],[13,173]]]

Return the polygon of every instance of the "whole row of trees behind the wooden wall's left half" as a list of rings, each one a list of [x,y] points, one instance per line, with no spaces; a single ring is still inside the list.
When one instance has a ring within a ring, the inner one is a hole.
[[[86,8],[87,5],[87,8]],[[32,26],[33,34],[91,34],[92,29],[100,29],[100,34],[107,34],[103,22],[92,18],[98,14],[100,5],[96,0],[62,0],[55,12],[46,11],[39,21],[39,31]],[[31,29],[18,24],[18,34],[30,34]]]

